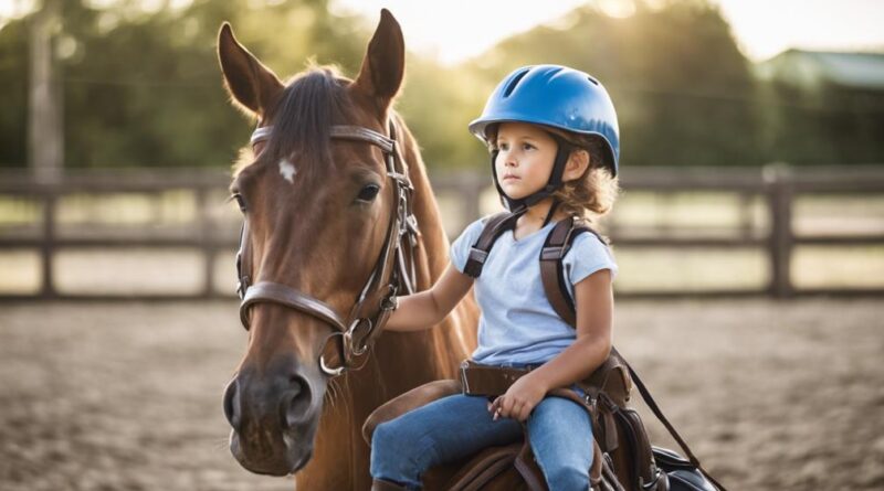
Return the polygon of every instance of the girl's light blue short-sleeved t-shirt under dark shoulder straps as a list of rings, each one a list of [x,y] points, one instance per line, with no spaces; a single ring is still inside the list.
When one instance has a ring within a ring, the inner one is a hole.
[[[470,248],[478,239],[486,218],[470,224],[451,245],[451,263],[463,273]],[[540,279],[540,249],[556,222],[518,241],[503,233],[485,259],[474,284],[478,318],[478,345],[473,360],[483,364],[545,363],[568,348],[577,332],[552,309]],[[607,245],[591,233],[580,234],[562,258],[567,287],[600,270],[617,275]]]

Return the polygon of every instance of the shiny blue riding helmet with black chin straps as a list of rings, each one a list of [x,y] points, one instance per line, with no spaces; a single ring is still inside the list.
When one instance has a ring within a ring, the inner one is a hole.
[[[611,97],[592,76],[567,66],[524,66],[506,76],[494,89],[478,119],[470,124],[470,131],[485,143],[488,125],[506,121],[529,122],[558,128],[580,135],[596,135],[603,142],[603,164],[617,175],[620,159],[620,130]],[[550,132],[558,142],[552,173],[547,184],[536,193],[520,200],[509,198],[497,181],[491,156],[491,172],[497,193],[511,212],[524,212],[533,204],[552,195],[561,188],[565,163],[573,146]],[[556,202],[547,215],[555,211]]]

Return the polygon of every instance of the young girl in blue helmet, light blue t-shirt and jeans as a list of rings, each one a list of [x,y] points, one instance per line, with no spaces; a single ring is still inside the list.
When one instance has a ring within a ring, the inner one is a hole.
[[[562,259],[577,329],[550,306],[540,249],[555,223],[607,213],[618,192],[619,135],[608,93],[586,73],[552,65],[519,68],[490,97],[470,130],[488,145],[492,175],[512,232],[494,244],[475,280],[464,274],[484,220],[452,244],[451,266],[430,290],[400,297],[386,329],[439,323],[475,284],[482,310],[476,363],[532,367],[502,396],[452,395],[379,425],[371,444],[375,490],[420,489],[429,468],[485,447],[516,441],[526,421],[550,490],[589,489],[592,428],[587,412],[561,397],[608,356],[617,265],[593,234],[578,235]]]

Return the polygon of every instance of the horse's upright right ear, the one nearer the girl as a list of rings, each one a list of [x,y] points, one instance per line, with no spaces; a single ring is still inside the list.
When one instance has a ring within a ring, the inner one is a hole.
[[[368,43],[362,68],[354,85],[376,98],[383,110],[399,92],[404,71],[406,41],[402,29],[389,10],[381,9],[378,29]]]

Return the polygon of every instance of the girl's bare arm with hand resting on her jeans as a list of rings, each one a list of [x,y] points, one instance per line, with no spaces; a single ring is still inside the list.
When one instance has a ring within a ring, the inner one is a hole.
[[[610,269],[601,269],[575,285],[577,340],[556,357],[513,384],[494,399],[488,410],[494,419],[524,421],[547,392],[588,377],[611,351],[613,288]]]

